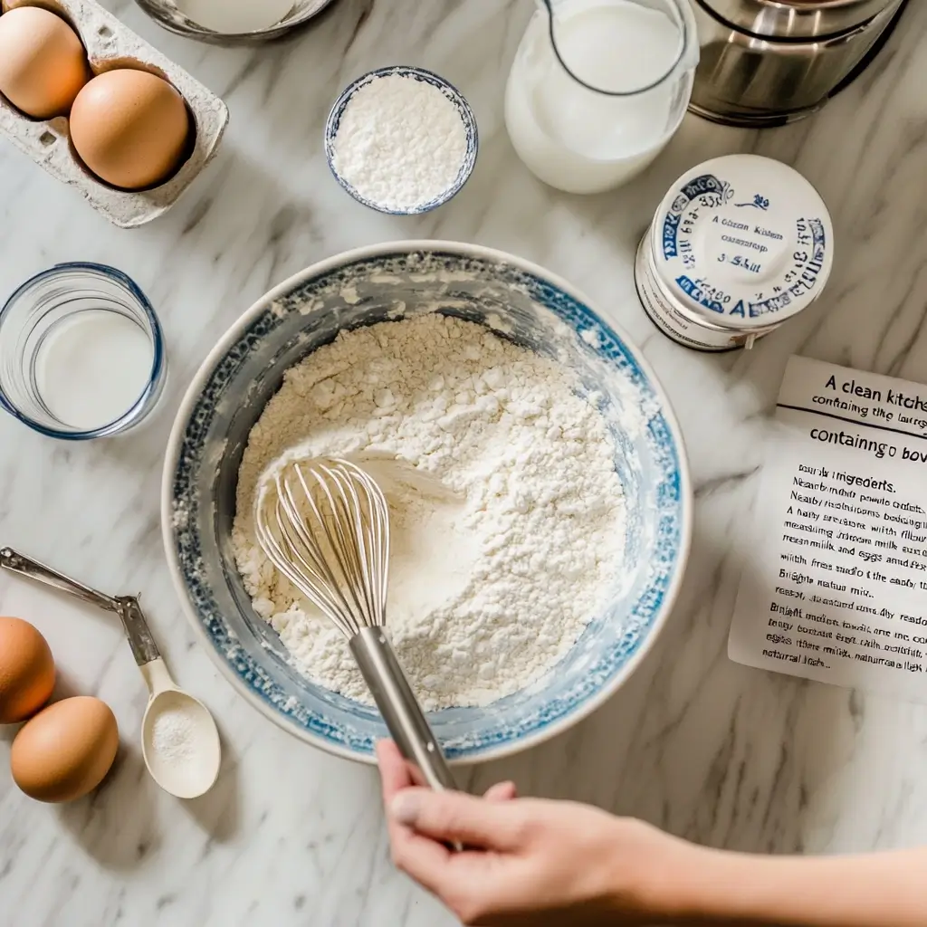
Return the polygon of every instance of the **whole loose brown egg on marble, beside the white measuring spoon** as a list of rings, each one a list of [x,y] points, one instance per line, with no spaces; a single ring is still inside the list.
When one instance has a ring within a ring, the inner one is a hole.
[[[68,698],[27,721],[10,749],[13,781],[40,802],[70,802],[92,792],[119,748],[109,706],[89,695]]]

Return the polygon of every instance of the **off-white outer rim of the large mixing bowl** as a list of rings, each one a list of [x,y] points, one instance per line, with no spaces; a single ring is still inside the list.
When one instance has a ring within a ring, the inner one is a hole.
[[[171,436],[168,439],[167,450],[164,455],[164,467],[161,474],[161,539],[164,543],[164,552],[168,561],[168,568],[171,573],[171,581],[174,589],[181,600],[181,606],[184,615],[189,623],[193,626],[194,634],[198,641],[204,645],[210,660],[214,665],[219,667],[222,675],[229,680],[232,687],[239,695],[253,708],[256,708],[261,715],[273,721],[277,727],[286,730],[298,740],[309,743],[312,746],[324,750],[325,753],[333,756],[340,756],[343,759],[349,759],[367,766],[375,766],[375,756],[370,754],[355,753],[347,747],[337,743],[332,743],[314,734],[311,730],[303,728],[293,723],[289,718],[281,715],[274,710],[265,699],[251,691],[245,684],[244,680],[235,672],[234,667],[223,658],[222,654],[216,649],[210,635],[206,632],[202,622],[199,619],[193,603],[187,594],[184,576],[179,563],[176,547],[174,545],[174,533],[172,528],[172,503],[173,503],[173,476],[177,467],[180,451],[182,448],[184,433],[190,419],[190,414],[199,399],[203,387],[205,387],[210,376],[213,374],[216,365],[221,362],[228,349],[230,349],[239,340],[245,330],[252,324],[255,318],[262,311],[266,311],[275,300],[285,297],[296,287],[306,283],[313,277],[324,273],[337,270],[346,264],[354,263],[359,260],[369,260],[372,258],[386,255],[412,254],[421,251],[444,251],[460,254],[464,257],[481,258],[492,262],[502,262],[512,265],[521,271],[534,274],[541,280],[557,286],[568,296],[578,299],[586,306],[603,324],[610,327],[617,337],[619,337],[626,349],[639,365],[641,372],[647,376],[654,394],[660,400],[661,413],[667,423],[667,428],[672,435],[678,448],[679,458],[679,556],[667,586],[666,595],[660,604],[659,611],[654,617],[654,623],[650,633],[641,641],[640,645],[630,655],[628,662],[621,667],[613,679],[610,679],[603,688],[591,695],[584,702],[577,705],[569,714],[558,718],[549,724],[544,725],[540,730],[536,730],[526,737],[498,746],[489,746],[482,753],[476,756],[464,756],[451,759],[452,766],[472,766],[479,763],[487,763],[492,760],[502,759],[506,756],[514,756],[523,753],[532,747],[545,743],[564,733],[566,730],[578,725],[580,721],[590,717],[605,702],[609,701],[618,692],[619,689],[631,678],[634,671],[641,665],[644,658],[651,652],[654,644],[659,639],[663,629],[666,627],[667,620],[679,598],[679,589],[685,576],[686,566],[689,562],[689,555],[692,548],[692,521],[694,497],[692,495],[692,476],[690,473],[689,458],[686,452],[685,441],[682,437],[682,431],[679,427],[679,421],[676,412],[667,396],[667,393],[654,373],[651,364],[643,357],[639,349],[628,336],[620,324],[613,323],[607,319],[603,313],[595,306],[578,287],[573,286],[563,277],[552,271],[548,271],[531,260],[518,257],[498,248],[488,248],[483,245],[473,245],[466,242],[443,241],[439,239],[408,239],[400,241],[380,242],[376,245],[366,245],[360,248],[351,248],[347,251],[341,251],[331,257],[316,261],[309,267],[292,274],[286,280],[274,286],[271,290],[261,296],[254,302],[250,308],[242,313],[238,319],[229,326],[225,333],[220,337],[215,346],[210,349],[209,354],[204,358],[197,368],[196,374],[190,381],[189,386],[184,392],[184,397],[177,409],[173,425],[171,425]]]

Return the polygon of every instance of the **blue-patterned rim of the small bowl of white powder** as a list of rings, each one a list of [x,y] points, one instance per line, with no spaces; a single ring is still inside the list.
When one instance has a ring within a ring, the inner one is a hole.
[[[374,200],[363,197],[338,173],[335,167],[335,138],[337,136],[338,126],[341,123],[341,117],[351,97],[357,93],[361,87],[371,83],[371,81],[375,81],[377,78],[381,77],[389,77],[393,74],[397,74],[400,77],[411,77],[413,80],[424,81],[425,83],[431,84],[433,87],[437,87],[442,94],[448,97],[454,105],[454,108],[457,109],[457,113],[464,123],[464,131],[466,132],[466,154],[464,155],[464,163],[461,164],[461,169],[457,172],[457,178],[454,183],[451,184],[444,193],[440,194],[440,196],[430,199],[428,202],[416,206],[411,210],[389,210],[383,205],[376,203]],[[464,95],[452,83],[446,81],[439,74],[430,70],[425,70],[425,68],[413,68],[410,65],[390,65],[387,68],[377,68],[376,70],[362,74],[361,77],[349,83],[344,91],[342,91],[341,95],[335,101],[335,105],[328,113],[328,119],[325,121],[325,159],[328,161],[328,169],[332,171],[332,176],[337,180],[342,189],[346,190],[351,197],[356,199],[363,206],[367,206],[377,212],[385,212],[390,216],[421,215],[423,212],[438,209],[438,206],[443,206],[450,199],[457,196],[473,173],[473,169],[476,166],[476,155],[478,151],[479,132],[476,128],[476,116],[473,113],[473,109],[470,108],[470,104],[467,103]]]

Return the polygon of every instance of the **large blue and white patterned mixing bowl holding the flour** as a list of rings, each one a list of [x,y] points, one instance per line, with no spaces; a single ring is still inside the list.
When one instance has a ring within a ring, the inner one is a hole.
[[[627,497],[625,565],[610,602],[557,667],[487,707],[430,716],[451,758],[481,761],[566,730],[629,678],[667,617],[689,552],[692,491],[667,399],[638,351],[565,281],[488,248],[396,242],[324,260],[277,286],[187,391],[165,464],[164,542],[186,612],[235,688],[308,743],[369,761],[386,734],[375,709],[300,676],[251,607],[232,552],[235,486],[251,427],[287,368],[341,329],[419,311],[487,325],[576,370],[613,431]]]

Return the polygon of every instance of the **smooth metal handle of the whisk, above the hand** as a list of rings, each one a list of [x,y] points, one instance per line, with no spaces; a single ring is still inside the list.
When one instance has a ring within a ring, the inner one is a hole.
[[[456,789],[440,744],[382,628],[362,628],[349,642],[363,678],[400,753],[437,792]]]

